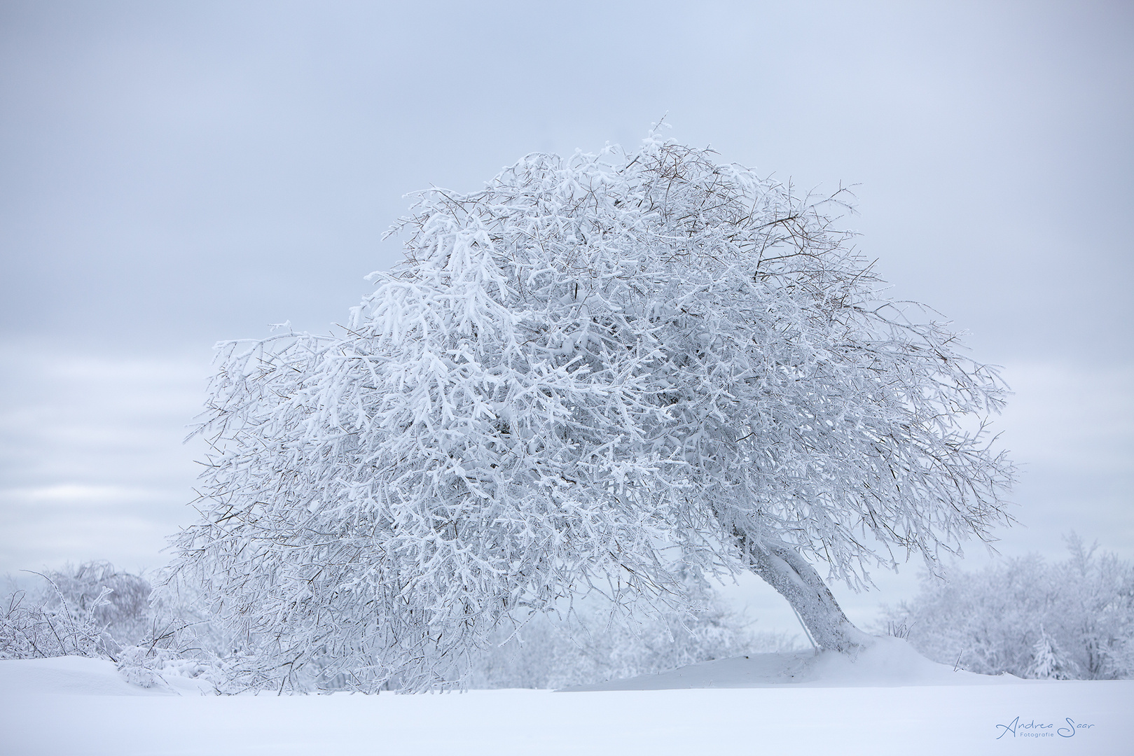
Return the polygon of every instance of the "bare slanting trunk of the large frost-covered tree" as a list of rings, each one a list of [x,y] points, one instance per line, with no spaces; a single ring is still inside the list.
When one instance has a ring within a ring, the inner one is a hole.
[[[820,648],[854,653],[871,645],[866,635],[843,613],[831,589],[799,552],[776,541],[746,541],[752,571],[792,604]]]

